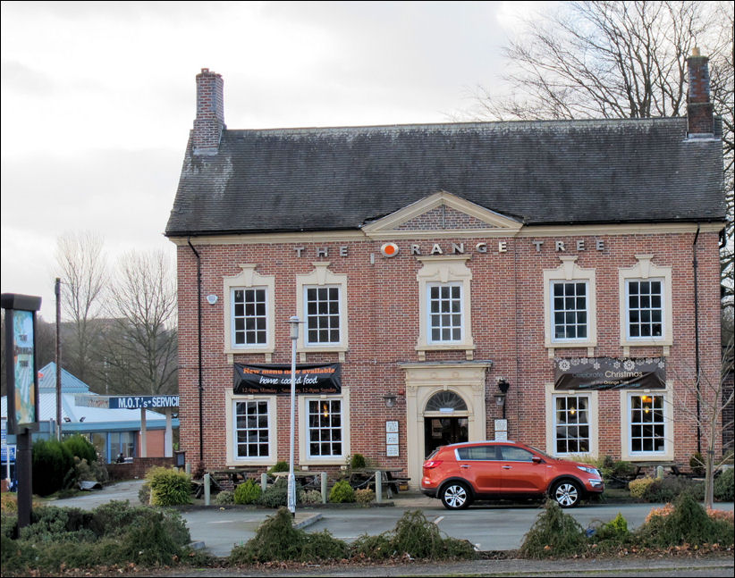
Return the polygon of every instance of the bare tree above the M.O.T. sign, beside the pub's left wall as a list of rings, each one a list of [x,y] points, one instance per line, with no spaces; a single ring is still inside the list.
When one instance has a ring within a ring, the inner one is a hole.
[[[123,255],[109,291],[106,383],[124,393],[177,390],[176,289],[163,252]]]

